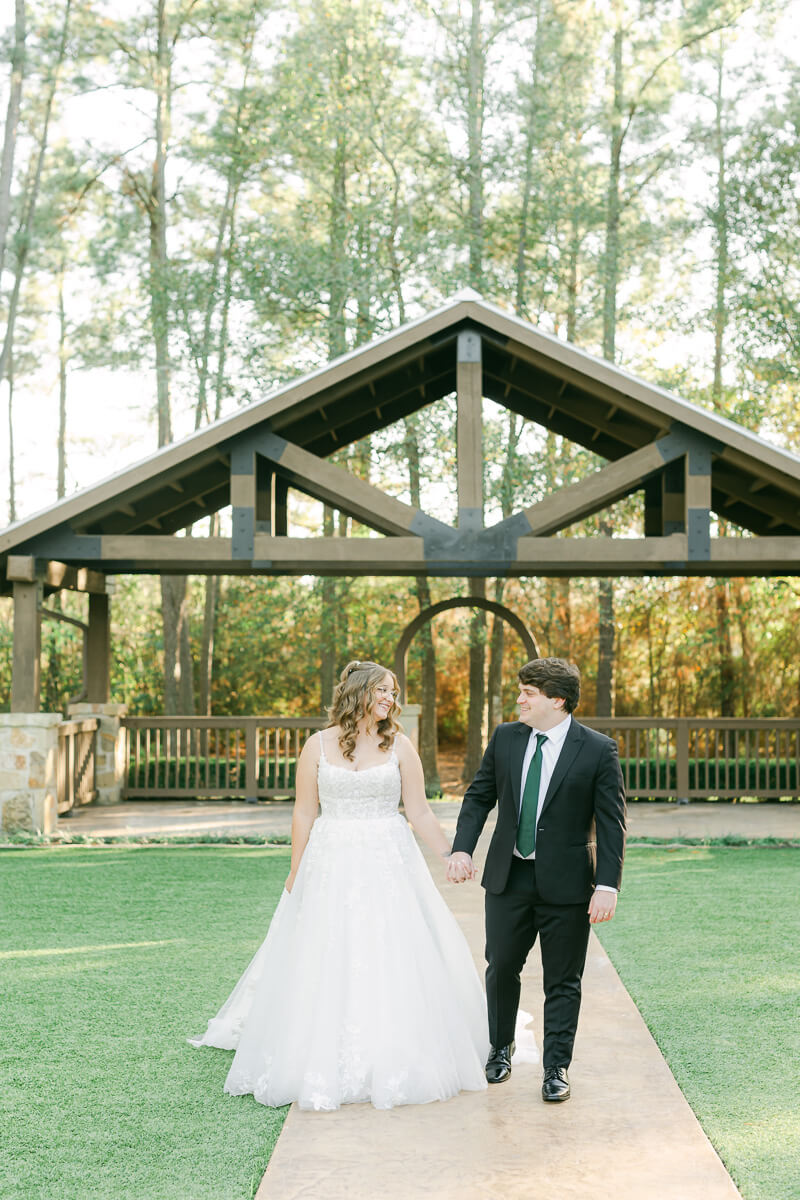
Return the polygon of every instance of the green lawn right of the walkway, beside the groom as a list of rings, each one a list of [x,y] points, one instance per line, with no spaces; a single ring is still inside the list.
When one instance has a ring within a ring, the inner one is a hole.
[[[800,852],[633,850],[600,931],[746,1200],[800,1196]]]

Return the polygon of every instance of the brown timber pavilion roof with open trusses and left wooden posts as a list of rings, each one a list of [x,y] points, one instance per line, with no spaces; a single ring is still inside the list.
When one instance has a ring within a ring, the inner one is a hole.
[[[450,526],[327,456],[456,394]],[[591,449],[607,466],[483,523],[481,400]],[[297,490],[369,536],[289,536]],[[638,538],[559,533],[632,492]],[[179,530],[231,506],[231,535]],[[715,538],[712,514],[752,536]],[[800,570],[800,458],[464,293],[264,400],[0,533],[14,598],[12,712],[38,710],[42,598],[90,595],[88,698],[108,700],[107,575],[765,575]]]

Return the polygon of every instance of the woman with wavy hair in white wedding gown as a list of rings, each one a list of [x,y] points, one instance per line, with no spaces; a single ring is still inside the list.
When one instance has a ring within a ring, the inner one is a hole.
[[[296,772],[291,868],[265,941],[205,1034],[233,1096],[378,1109],[486,1087],[486,1001],[407,821],[444,859],[397,680],[350,662]],[[318,809],[321,812],[318,815]]]

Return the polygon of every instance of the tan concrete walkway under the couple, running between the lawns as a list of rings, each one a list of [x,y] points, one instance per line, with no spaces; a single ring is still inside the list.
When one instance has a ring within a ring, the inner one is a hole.
[[[441,869],[433,864],[434,877]],[[483,970],[482,889],[440,887]],[[535,961],[534,961],[535,960]],[[522,1007],[541,1045],[541,966]],[[735,1200],[631,997],[593,935],[570,1070],[572,1098],[545,1104],[541,1068],[445,1104],[337,1112],[291,1106],[257,1200]]]

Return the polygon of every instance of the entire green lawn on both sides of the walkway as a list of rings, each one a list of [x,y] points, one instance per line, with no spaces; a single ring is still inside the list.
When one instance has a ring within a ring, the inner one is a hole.
[[[283,1121],[194,1050],[288,851],[0,850],[2,1200],[245,1200]],[[746,1200],[796,1200],[800,852],[632,850],[601,937]]]

